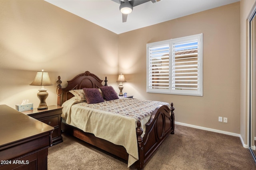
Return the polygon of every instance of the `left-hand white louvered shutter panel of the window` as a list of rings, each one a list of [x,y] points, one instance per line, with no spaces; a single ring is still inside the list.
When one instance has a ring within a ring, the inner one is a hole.
[[[169,43],[148,48],[148,88],[169,90]]]

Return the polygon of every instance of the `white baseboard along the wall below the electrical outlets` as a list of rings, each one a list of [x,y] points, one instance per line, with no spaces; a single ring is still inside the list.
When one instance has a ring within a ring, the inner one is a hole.
[[[245,145],[244,144],[244,141],[241,137],[240,134],[238,133],[232,133],[232,132],[227,132],[227,131],[220,131],[220,130],[217,130],[217,129],[211,129],[211,128],[207,128],[207,127],[201,127],[201,126],[196,126],[196,125],[190,125],[190,124],[186,124],[186,123],[180,123],[180,122],[175,122],[176,125],[182,125],[182,126],[188,126],[188,127],[193,127],[193,128],[196,128],[196,129],[202,129],[202,130],[206,130],[206,131],[211,131],[211,132],[216,132],[216,133],[223,133],[225,135],[231,135],[231,136],[235,136],[235,137],[240,137],[240,140],[242,142],[242,145],[244,148],[249,148],[248,145]]]

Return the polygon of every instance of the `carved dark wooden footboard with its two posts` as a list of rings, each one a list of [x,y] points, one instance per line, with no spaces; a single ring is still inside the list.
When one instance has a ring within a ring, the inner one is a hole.
[[[143,133],[141,123],[140,121],[137,122],[136,133],[138,140],[139,160],[136,162],[136,169],[143,169],[144,163],[150,158],[164,139],[166,139],[170,133],[174,134],[175,125],[173,111],[173,103],[171,103],[170,109],[165,105],[158,106],[146,124],[146,132],[143,139],[141,137]]]

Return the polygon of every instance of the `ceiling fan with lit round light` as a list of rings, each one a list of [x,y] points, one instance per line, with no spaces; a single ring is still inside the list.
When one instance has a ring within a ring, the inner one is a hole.
[[[122,20],[126,22],[128,14],[132,12],[134,6],[138,6],[145,2],[151,1],[153,3],[158,2],[160,0],[112,0],[118,4],[120,4],[120,12],[122,12]]]

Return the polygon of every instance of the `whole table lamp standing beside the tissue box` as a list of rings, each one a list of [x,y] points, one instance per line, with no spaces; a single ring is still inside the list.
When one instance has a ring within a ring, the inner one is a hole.
[[[48,106],[46,105],[46,98],[48,97],[48,92],[47,89],[44,88],[44,86],[51,86],[52,82],[49,78],[48,72],[44,72],[44,70],[42,71],[38,71],[36,73],[36,78],[34,79],[34,81],[30,84],[30,86],[42,86],[42,88],[40,88],[37,94],[37,97],[40,100],[40,104],[38,106],[38,110],[42,110],[42,109],[48,109]]]

